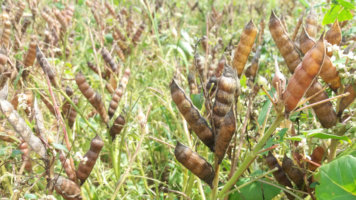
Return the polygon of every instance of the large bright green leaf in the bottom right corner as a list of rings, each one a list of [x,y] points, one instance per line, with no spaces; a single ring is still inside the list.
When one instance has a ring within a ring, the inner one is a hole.
[[[350,155],[319,167],[314,174],[320,183],[315,187],[316,199],[356,199],[356,158]]]

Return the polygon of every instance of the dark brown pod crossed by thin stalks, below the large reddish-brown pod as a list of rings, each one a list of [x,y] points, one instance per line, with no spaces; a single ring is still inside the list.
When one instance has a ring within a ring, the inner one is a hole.
[[[313,96],[315,93],[323,89],[323,85],[317,80],[314,79],[312,85],[310,85],[309,89],[305,93],[305,97],[309,98]],[[323,91],[320,94],[316,95],[312,99],[309,100],[309,104],[314,104],[319,101],[323,101],[329,99],[328,94]],[[318,117],[321,126],[323,128],[331,128],[336,124],[336,112],[334,111],[334,106],[330,101],[327,101],[322,104],[318,104],[312,107],[315,112],[315,115]]]

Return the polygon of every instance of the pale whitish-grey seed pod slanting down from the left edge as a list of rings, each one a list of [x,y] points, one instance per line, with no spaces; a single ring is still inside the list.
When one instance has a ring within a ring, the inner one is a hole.
[[[36,137],[31,128],[26,124],[19,114],[14,110],[14,107],[7,101],[9,93],[9,86],[7,82],[0,91],[0,110],[5,115],[7,121],[10,123],[14,130],[25,140],[39,156],[45,161],[48,160],[45,147],[42,145],[40,138]]]

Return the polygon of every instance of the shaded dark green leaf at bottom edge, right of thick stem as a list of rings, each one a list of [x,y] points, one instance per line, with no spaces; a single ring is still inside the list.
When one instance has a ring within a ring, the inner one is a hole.
[[[247,183],[250,181],[250,178],[240,178],[239,181],[237,181],[236,186],[240,186],[244,183]],[[262,188],[263,188],[263,196],[265,197],[265,200],[271,200],[275,196],[279,194],[281,189],[274,187],[273,185],[268,185],[266,183],[260,183],[258,181],[255,181],[251,184],[246,185],[245,187],[240,189],[241,195],[238,191],[230,194],[230,200],[257,200],[257,199],[262,199]],[[234,187],[232,188],[234,189]]]

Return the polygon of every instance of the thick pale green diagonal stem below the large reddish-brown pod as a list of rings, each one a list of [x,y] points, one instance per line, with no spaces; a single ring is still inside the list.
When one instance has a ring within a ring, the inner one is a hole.
[[[282,113],[283,114],[283,113]],[[266,131],[265,135],[261,138],[261,140],[256,144],[255,148],[252,150],[250,154],[246,157],[244,162],[242,162],[240,168],[235,172],[235,174],[231,177],[229,181],[225,184],[223,189],[221,189],[220,193],[217,198],[222,198],[223,195],[226,193],[226,191],[231,187],[232,184],[235,183],[235,181],[241,176],[242,173],[244,173],[244,169],[248,167],[248,164],[250,161],[255,158],[255,154],[260,151],[260,149],[263,147],[269,136],[272,135],[273,131],[278,127],[278,125],[284,120],[284,116],[282,114],[277,113],[276,119],[274,119],[273,123],[271,126],[268,128]]]

